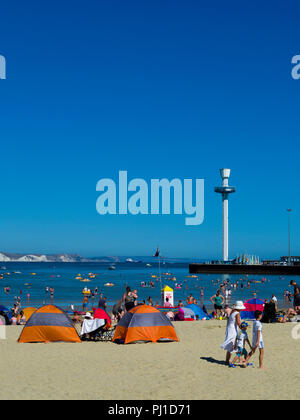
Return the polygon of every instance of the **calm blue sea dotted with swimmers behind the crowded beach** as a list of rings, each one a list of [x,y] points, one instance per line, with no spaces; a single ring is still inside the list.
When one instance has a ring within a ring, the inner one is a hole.
[[[40,306],[50,303],[51,298],[46,294],[46,287],[54,288],[53,303],[69,309],[73,304],[75,307],[82,306],[82,290],[86,286],[91,290],[98,287],[99,293],[102,292],[107,297],[108,304],[111,306],[122,298],[125,287],[128,285],[132,289],[138,290],[138,301],[147,300],[151,296],[154,303],[160,302],[160,281],[155,277],[159,276],[158,265],[152,264],[146,267],[146,263],[119,263],[116,270],[110,271],[108,263],[0,263],[0,273],[4,274],[4,279],[0,280],[0,305],[11,307],[15,296],[20,296],[22,306]],[[10,274],[5,274],[10,273]],[[32,273],[36,273],[32,275]],[[95,278],[88,283],[77,280],[78,274],[88,277],[89,273],[96,274]],[[291,278],[278,276],[267,277],[266,282],[261,283],[262,276],[241,277],[240,275],[199,275],[197,278],[189,277],[187,264],[167,263],[161,267],[162,285],[168,285],[174,289],[175,303],[178,300],[186,300],[192,294],[199,303],[201,288],[204,291],[203,303],[209,306],[209,298],[218,289],[217,281],[229,280],[231,283],[241,284],[243,279],[244,286],[232,291],[231,302],[236,300],[247,300],[253,297],[256,292],[261,299],[270,298],[274,293],[281,305],[284,304],[284,290],[289,289]],[[166,275],[163,273],[170,273]],[[171,280],[176,277],[176,281]],[[142,282],[153,280],[154,288],[141,287]],[[247,280],[250,281],[250,288],[246,287]],[[182,284],[182,289],[175,289],[175,282]],[[113,283],[113,287],[104,286],[106,283]],[[9,286],[10,293],[5,294],[4,288]],[[27,297],[27,295],[29,295]],[[90,307],[97,302],[90,299]],[[286,306],[286,303],[285,303]]]

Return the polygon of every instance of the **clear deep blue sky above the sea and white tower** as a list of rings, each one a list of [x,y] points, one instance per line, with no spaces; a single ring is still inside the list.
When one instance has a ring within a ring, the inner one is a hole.
[[[221,255],[219,168],[232,168],[230,254],[300,254],[299,2],[3,2],[0,250]],[[96,213],[96,182],[205,179],[205,222]]]

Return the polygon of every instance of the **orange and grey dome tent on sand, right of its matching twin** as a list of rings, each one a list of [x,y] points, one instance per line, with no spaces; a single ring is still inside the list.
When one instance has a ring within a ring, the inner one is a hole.
[[[135,306],[121,318],[113,341],[124,344],[137,341],[179,341],[170,320],[149,305]]]

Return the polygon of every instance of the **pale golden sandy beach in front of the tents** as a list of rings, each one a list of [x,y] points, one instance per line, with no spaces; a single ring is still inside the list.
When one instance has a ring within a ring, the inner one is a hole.
[[[299,324],[298,324],[299,325]],[[299,399],[293,323],[264,324],[265,371],[224,366],[225,321],[175,323],[179,343],[18,344],[0,340],[3,399]],[[249,336],[251,337],[251,327]]]

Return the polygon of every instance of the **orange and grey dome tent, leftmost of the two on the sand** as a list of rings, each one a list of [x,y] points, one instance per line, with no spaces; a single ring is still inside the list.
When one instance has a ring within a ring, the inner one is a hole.
[[[26,322],[20,335],[19,343],[49,343],[56,341],[81,342],[68,315],[57,306],[42,306]]]

